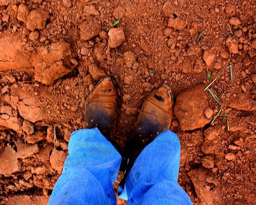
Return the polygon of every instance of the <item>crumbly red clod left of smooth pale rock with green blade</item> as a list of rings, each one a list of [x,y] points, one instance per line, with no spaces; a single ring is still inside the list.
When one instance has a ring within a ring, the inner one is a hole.
[[[92,17],[86,17],[86,20],[79,26],[80,38],[82,40],[90,40],[92,37],[99,35],[100,22]]]

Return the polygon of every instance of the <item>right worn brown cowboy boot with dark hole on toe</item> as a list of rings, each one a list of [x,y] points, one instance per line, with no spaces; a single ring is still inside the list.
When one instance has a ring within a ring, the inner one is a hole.
[[[138,120],[125,146],[127,167],[119,186],[123,187],[126,177],[140,152],[160,133],[170,128],[172,122],[172,93],[163,85],[152,92],[144,101]]]

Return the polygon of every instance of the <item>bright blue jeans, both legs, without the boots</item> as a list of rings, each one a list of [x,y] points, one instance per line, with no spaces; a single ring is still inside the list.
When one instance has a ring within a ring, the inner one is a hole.
[[[121,161],[98,128],[73,132],[49,204],[116,204],[113,183]],[[171,131],[161,133],[140,153],[119,196],[127,204],[192,204],[177,183],[179,161],[178,136]]]

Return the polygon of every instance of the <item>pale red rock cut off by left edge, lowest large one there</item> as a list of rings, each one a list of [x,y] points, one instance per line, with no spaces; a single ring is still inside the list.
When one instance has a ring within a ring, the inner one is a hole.
[[[12,174],[18,171],[16,153],[11,146],[7,145],[0,154],[0,174]]]

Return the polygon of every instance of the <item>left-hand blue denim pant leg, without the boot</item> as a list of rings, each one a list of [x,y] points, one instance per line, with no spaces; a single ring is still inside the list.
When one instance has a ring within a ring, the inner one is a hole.
[[[49,204],[116,204],[113,183],[121,161],[122,156],[98,128],[73,132]]]

